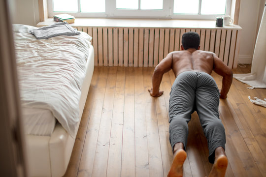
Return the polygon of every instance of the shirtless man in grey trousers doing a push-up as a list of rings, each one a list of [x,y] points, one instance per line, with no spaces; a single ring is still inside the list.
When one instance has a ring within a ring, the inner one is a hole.
[[[199,34],[186,32],[182,36],[182,51],[171,52],[155,68],[151,96],[163,94],[159,89],[163,74],[170,69],[175,82],[169,98],[169,134],[174,160],[168,177],[182,177],[187,157],[188,122],[197,111],[208,141],[209,162],[214,163],[209,177],[224,177],[228,165],[225,154],[225,129],[219,118],[219,97],[226,98],[233,80],[232,70],[212,52],[199,50]],[[219,91],[212,70],[223,77]]]

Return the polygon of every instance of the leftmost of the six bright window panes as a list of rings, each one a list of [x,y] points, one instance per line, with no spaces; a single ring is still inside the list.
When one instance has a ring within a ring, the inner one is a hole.
[[[77,0],[53,0],[54,12],[77,12]]]

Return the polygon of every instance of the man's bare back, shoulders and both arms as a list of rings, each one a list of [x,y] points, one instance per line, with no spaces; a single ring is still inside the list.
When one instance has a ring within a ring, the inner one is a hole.
[[[183,47],[181,46],[183,49]],[[159,90],[163,74],[173,70],[175,77],[184,71],[205,72],[211,74],[216,72],[223,77],[221,98],[226,98],[230,89],[233,73],[232,70],[219,59],[214,53],[196,49],[187,49],[169,53],[155,68],[152,89],[149,92],[152,96],[161,96],[163,91]]]

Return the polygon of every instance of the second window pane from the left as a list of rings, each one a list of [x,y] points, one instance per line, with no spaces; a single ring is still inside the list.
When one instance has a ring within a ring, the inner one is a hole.
[[[105,12],[105,0],[80,0],[81,12]]]

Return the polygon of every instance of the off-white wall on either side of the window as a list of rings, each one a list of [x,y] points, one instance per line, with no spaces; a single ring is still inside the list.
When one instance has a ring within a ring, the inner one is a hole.
[[[265,0],[241,0],[239,25],[242,27],[239,63],[251,63],[256,42],[260,6]],[[233,0],[234,2],[234,0]],[[38,0],[15,0],[13,23],[35,26],[39,22]]]

